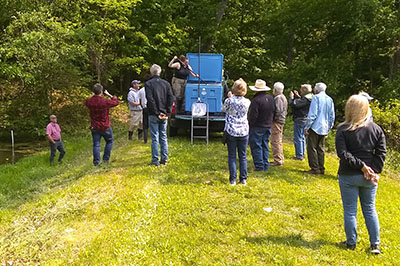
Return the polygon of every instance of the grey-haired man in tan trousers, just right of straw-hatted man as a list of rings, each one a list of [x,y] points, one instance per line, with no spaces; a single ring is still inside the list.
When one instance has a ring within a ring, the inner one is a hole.
[[[275,82],[274,84],[275,113],[271,128],[271,149],[274,161],[271,163],[271,166],[281,166],[284,162],[282,137],[288,106],[287,99],[283,95],[284,87],[282,82]]]

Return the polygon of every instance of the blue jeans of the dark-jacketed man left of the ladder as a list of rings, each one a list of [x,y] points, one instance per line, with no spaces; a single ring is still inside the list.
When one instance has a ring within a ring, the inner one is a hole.
[[[161,147],[161,162],[168,160],[167,120],[160,120],[155,115],[149,115],[151,135],[151,163],[159,164],[158,144]]]

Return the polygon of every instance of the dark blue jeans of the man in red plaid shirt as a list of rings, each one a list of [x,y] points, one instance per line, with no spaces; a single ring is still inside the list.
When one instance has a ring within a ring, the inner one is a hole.
[[[107,128],[105,131],[98,131],[92,129],[92,139],[93,139],[93,164],[95,166],[100,163],[100,141],[101,137],[106,141],[106,146],[104,147],[103,162],[108,163],[110,161],[110,155],[112,150],[112,144],[114,141],[111,127]]]

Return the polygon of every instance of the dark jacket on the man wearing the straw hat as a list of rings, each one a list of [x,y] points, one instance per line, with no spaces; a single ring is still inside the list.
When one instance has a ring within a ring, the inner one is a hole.
[[[274,119],[275,102],[272,95],[257,92],[250,104],[248,116],[250,127],[271,127]]]

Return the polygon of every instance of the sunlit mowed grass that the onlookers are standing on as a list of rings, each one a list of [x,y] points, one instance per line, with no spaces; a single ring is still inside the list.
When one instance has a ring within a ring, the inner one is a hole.
[[[125,137],[97,168],[89,136],[66,148],[61,166],[49,168],[44,153],[0,167],[2,265],[400,264],[397,176],[381,177],[383,254],[372,256],[361,210],[356,250],[337,244],[345,235],[333,155],[324,176],[291,159],[260,173],[249,150],[248,186],[231,187],[219,140],[170,138],[169,164],[158,168],[146,166],[149,144]]]

